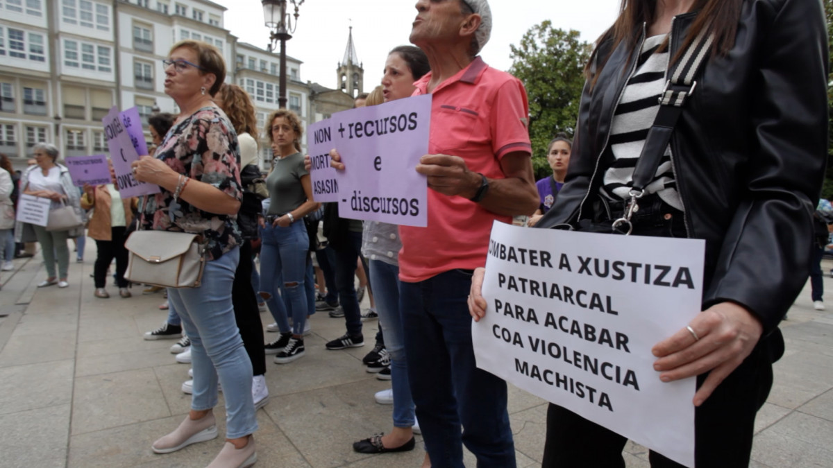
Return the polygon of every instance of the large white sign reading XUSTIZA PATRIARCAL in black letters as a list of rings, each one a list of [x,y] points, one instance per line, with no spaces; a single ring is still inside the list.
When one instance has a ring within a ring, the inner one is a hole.
[[[472,322],[477,366],[685,466],[696,380],[651,347],[701,311],[705,242],[495,222]]]

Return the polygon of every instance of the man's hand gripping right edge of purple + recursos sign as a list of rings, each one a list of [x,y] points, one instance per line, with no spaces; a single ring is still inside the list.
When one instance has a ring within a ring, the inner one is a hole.
[[[474,197],[482,177],[469,171],[463,158],[446,154],[426,154],[416,165],[416,172],[428,177],[428,187],[443,195]]]

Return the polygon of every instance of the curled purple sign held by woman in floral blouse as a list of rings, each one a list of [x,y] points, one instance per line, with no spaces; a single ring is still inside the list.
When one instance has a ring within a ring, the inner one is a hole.
[[[131,163],[139,158],[130,135],[124,128],[118,109],[113,107],[102,120],[107,147],[110,149],[112,168],[116,172],[116,187],[122,197],[138,197],[159,193],[159,186],[147,182],[138,182],[133,177]]]

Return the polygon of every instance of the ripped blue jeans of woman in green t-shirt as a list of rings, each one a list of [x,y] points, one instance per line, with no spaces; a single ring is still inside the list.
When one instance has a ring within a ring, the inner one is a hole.
[[[292,331],[302,335],[304,332],[308,307],[304,283],[309,245],[307,227],[302,222],[293,222],[289,227],[272,227],[267,223],[261,231],[260,296],[266,299],[281,333]],[[278,289],[282,291],[282,297],[277,296]],[[263,296],[264,293],[268,297]],[[292,309],[292,330],[284,301]],[[312,308],[315,309],[314,301]]]

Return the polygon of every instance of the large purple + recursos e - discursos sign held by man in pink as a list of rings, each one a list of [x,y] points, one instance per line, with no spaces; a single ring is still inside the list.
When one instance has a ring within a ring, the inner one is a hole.
[[[340,217],[428,225],[428,182],[416,172],[428,152],[431,95],[360,107],[332,116],[332,137],[345,170]]]

